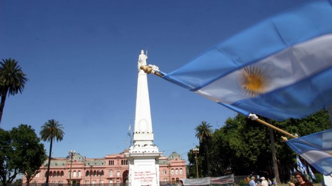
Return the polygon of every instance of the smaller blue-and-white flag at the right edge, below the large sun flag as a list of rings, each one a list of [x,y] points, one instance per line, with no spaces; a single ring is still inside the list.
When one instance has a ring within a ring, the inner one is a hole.
[[[317,171],[324,175],[332,174],[332,129],[291,139],[286,143]]]

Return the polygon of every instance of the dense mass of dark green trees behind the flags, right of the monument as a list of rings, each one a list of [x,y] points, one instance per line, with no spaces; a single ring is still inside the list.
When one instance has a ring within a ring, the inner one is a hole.
[[[271,124],[289,133],[297,133],[299,136],[330,127],[329,114],[326,110],[302,119],[287,119],[282,122],[272,120]],[[281,133],[274,132],[280,177],[281,180],[287,181],[289,170],[293,170],[296,162],[296,153],[281,140],[281,136]],[[238,114],[234,118],[228,118],[224,126],[213,132],[207,143],[210,176],[235,173],[236,175],[259,174],[271,178],[273,175],[269,128],[246,116]],[[200,143],[200,149],[204,149],[201,148],[204,145]],[[206,152],[200,150],[198,158],[200,174],[203,175],[207,173],[203,166]],[[195,159],[191,151],[188,157],[190,175],[194,176]]]

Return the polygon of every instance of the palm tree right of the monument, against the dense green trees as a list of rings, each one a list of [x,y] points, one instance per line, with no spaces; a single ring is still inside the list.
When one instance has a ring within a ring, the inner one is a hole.
[[[205,148],[205,155],[206,155],[206,170],[207,170],[207,176],[209,176],[210,172],[210,166],[209,166],[209,159],[208,159],[208,149],[207,149],[207,142],[212,137],[212,126],[208,123],[206,124],[206,121],[202,121],[201,125],[197,126],[195,128],[196,134],[195,137],[199,139],[199,141],[204,145]]]

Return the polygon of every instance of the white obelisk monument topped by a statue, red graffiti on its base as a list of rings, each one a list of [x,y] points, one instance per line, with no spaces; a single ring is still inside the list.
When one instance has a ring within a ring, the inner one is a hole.
[[[138,60],[138,80],[136,113],[134,124],[134,144],[125,153],[129,160],[129,186],[159,186],[159,161],[163,154],[153,144],[149,91],[146,73],[140,69],[146,65],[144,51]]]

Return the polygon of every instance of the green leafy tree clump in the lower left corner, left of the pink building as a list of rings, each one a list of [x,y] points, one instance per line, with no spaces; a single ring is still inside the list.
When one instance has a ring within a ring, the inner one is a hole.
[[[0,129],[0,181],[3,186],[12,183],[18,174],[24,174],[29,182],[45,160],[44,144],[31,126],[21,124],[10,131]]]

